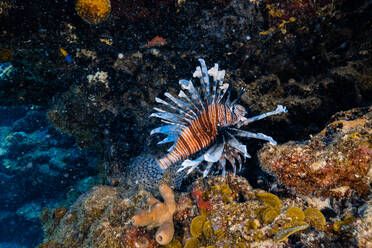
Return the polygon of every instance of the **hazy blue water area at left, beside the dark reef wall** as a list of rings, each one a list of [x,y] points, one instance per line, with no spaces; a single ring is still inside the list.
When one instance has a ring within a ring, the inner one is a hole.
[[[98,158],[33,106],[0,107],[0,141],[0,248],[34,247],[43,208],[68,207],[99,183]]]

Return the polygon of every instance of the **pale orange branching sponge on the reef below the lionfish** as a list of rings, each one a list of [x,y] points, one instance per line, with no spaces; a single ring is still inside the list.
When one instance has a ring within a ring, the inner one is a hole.
[[[133,217],[136,226],[159,227],[155,238],[161,245],[168,244],[174,234],[173,214],[176,211],[176,201],[173,190],[166,184],[159,186],[164,203],[156,198],[150,198],[149,210],[143,210]]]

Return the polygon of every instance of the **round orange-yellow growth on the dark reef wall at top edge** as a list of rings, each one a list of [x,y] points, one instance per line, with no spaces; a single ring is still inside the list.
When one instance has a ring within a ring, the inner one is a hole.
[[[75,5],[78,15],[89,24],[98,24],[110,15],[110,0],[78,0]]]

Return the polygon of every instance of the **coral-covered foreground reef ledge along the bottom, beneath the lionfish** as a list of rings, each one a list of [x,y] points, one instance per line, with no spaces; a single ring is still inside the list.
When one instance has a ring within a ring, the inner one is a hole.
[[[200,208],[200,197],[174,195],[167,186],[160,187],[165,203],[143,190],[94,187],[67,211],[44,211],[40,247],[355,247],[369,242],[368,204],[359,214],[354,211],[355,217],[344,209],[329,218],[322,206],[252,189],[244,178],[230,173],[226,178],[198,178],[192,187],[202,192],[202,202],[210,208]],[[136,214],[136,209],[146,208]],[[164,246],[155,239],[162,228],[153,228],[161,223],[171,224],[163,225],[172,234]]]

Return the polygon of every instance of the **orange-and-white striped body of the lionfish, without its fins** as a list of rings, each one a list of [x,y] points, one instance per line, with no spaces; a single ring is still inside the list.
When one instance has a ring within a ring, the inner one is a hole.
[[[231,125],[233,116],[224,104],[210,104],[182,131],[172,151],[159,160],[160,167],[165,170],[207,147],[216,138],[218,127]]]

